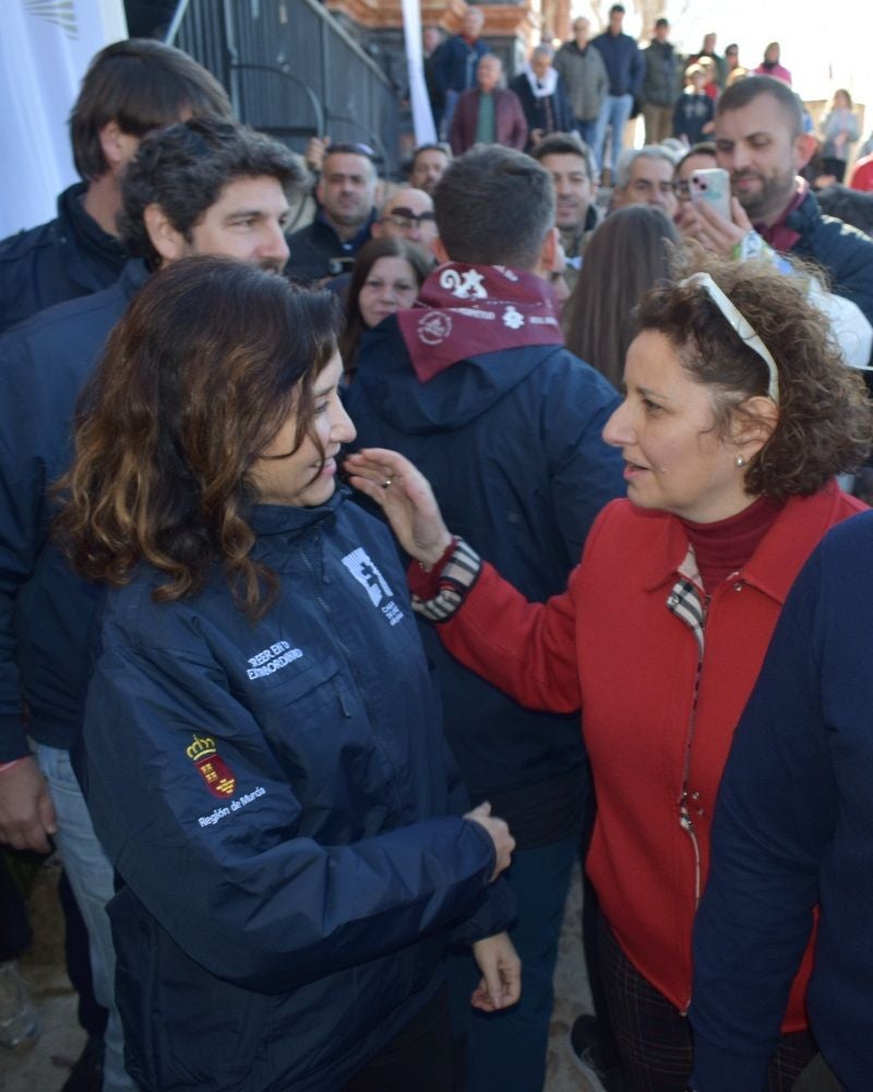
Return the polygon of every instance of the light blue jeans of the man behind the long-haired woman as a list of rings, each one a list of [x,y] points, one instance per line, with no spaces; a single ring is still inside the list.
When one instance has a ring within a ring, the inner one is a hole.
[[[55,843],[88,930],[94,993],[109,1010],[104,1036],[103,1092],[135,1092],[136,1084],[124,1069],[124,1042],[115,1000],[116,953],[106,913],[106,904],[115,894],[112,866],[94,832],[70,752],[37,744],[36,758],[55,804],[58,819]]]

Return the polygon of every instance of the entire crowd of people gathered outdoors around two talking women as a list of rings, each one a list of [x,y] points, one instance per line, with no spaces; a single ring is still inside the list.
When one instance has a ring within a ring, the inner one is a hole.
[[[0,242],[0,843],[63,864],[67,1092],[541,1092],[581,856],[596,1092],[865,1087],[858,119],[623,19],[507,87],[482,9],[426,28],[403,181],[94,58]]]

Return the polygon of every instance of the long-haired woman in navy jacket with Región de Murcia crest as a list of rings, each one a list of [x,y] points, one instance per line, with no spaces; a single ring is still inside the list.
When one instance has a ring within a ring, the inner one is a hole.
[[[512,838],[462,816],[387,531],[336,488],[336,321],[183,259],[83,399],[58,534],[111,585],[81,778],[146,1092],[449,1092],[446,946],[474,942],[474,1005],[519,994]]]

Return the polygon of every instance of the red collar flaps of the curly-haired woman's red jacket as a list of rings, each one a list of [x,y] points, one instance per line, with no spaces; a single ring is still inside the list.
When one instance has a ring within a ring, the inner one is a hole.
[[[778,604],[785,603],[800,567],[833,525],[841,491],[835,480],[811,497],[789,497],[773,526],[742,568],[743,583],[757,589]],[[639,510],[660,524],[653,535],[643,566],[643,587],[647,592],[671,585],[689,549],[680,521],[668,512]]]

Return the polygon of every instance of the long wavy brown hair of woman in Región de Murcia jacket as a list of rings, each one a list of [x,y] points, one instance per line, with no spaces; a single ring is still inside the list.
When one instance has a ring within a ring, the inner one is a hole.
[[[112,331],[83,392],[56,534],[87,580],[121,585],[142,561],[156,602],[200,591],[223,565],[262,617],[276,579],[250,557],[251,468],[290,413],[308,435],[312,384],[336,352],[332,293],[228,258],[156,273]]]

